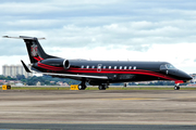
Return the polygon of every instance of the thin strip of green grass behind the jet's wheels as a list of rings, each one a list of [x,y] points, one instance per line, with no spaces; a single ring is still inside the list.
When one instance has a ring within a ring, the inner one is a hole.
[[[0,87],[0,90],[2,90],[2,87]],[[70,90],[69,87],[12,87],[11,90]],[[97,87],[88,87],[86,90],[98,90]],[[173,88],[158,88],[158,87],[119,87],[119,88],[109,88],[107,90],[173,90]],[[196,90],[196,88],[181,88],[181,90]]]

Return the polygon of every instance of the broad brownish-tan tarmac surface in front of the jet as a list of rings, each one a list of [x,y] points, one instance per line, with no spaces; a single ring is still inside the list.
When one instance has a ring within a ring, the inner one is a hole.
[[[99,126],[98,129],[108,125],[121,127],[163,125],[181,128],[187,126],[196,129],[195,102],[195,91],[1,90],[0,128],[9,129],[2,126],[19,123],[24,126],[38,123],[39,127],[52,123],[86,126],[86,129],[90,128],[90,125]]]

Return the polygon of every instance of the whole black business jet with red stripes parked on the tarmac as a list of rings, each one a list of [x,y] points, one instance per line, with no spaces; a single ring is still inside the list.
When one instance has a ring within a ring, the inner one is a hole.
[[[47,54],[38,42],[39,39],[45,38],[3,37],[24,40],[30,60],[30,68],[23,61],[21,62],[27,73],[81,80],[79,90],[86,89],[86,82],[98,86],[99,90],[106,90],[110,83],[114,82],[151,80],[175,81],[174,89],[180,90],[180,83],[192,79],[189,75],[176,69],[168,62],[66,60]]]

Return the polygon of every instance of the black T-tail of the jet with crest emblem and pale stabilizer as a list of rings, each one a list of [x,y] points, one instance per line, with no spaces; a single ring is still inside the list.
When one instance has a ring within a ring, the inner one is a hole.
[[[57,57],[57,56],[49,55],[44,51],[38,40],[41,40],[45,38],[26,37],[26,36],[20,36],[20,37],[3,36],[3,38],[23,39],[24,42],[26,43],[26,49],[28,52],[30,63],[37,63],[38,61],[41,61],[41,60]]]

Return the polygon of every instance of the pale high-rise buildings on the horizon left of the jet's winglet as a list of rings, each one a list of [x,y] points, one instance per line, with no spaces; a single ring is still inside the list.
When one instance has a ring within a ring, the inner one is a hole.
[[[22,65],[3,65],[2,66],[2,75],[3,76],[11,76],[15,78],[17,75],[24,75],[26,78],[33,76],[29,73],[26,73]]]

